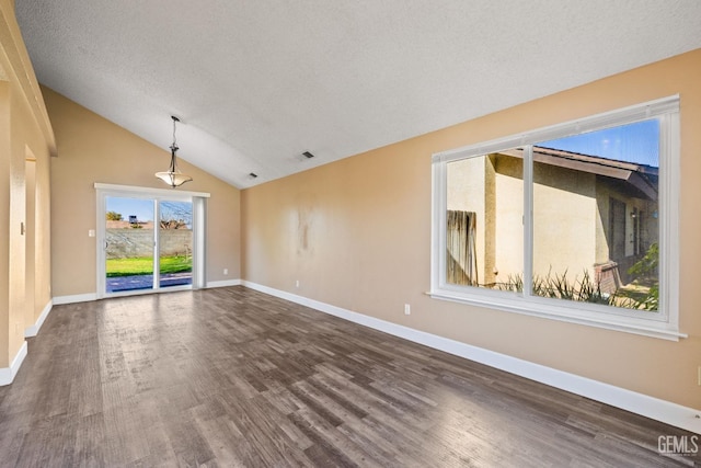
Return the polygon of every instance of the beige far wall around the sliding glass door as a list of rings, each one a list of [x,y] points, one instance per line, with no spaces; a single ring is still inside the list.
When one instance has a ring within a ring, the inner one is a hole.
[[[53,90],[43,90],[58,151],[51,163],[54,297],[94,294],[96,238],[88,237],[90,229],[97,228],[94,183],[166,189],[153,174],[165,170],[170,151]],[[184,145],[186,141],[181,142]],[[207,281],[238,279],[240,191],[182,159],[179,167],[194,179],[182,190],[211,194],[207,202]],[[229,270],[226,276],[223,269]]]

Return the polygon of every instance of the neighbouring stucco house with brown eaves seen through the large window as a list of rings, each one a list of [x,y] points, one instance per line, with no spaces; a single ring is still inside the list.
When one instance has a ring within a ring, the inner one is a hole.
[[[587,272],[613,293],[658,239],[658,169],[535,147],[533,273]],[[448,281],[493,287],[524,270],[522,151],[451,162]]]

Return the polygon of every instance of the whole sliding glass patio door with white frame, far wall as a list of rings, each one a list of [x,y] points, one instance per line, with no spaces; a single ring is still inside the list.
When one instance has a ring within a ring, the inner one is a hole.
[[[205,197],[99,190],[97,204],[99,297],[204,286]]]

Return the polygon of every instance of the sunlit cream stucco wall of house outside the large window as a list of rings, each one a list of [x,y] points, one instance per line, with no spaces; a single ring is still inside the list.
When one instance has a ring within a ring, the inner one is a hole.
[[[494,161],[493,164],[490,161]],[[522,159],[491,155],[453,161],[448,168],[448,209],[478,213],[476,253],[481,284],[509,283],[522,276]],[[487,190],[487,186],[492,189]],[[594,278],[597,239],[606,242],[606,238],[596,236],[596,196],[594,174],[533,164],[536,275],[566,273],[574,281],[582,278],[586,271]],[[494,246],[490,253],[487,243]]]

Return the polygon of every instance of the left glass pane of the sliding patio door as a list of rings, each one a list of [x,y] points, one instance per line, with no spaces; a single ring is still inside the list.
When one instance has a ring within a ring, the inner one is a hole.
[[[105,197],[106,292],[153,288],[153,199]]]

